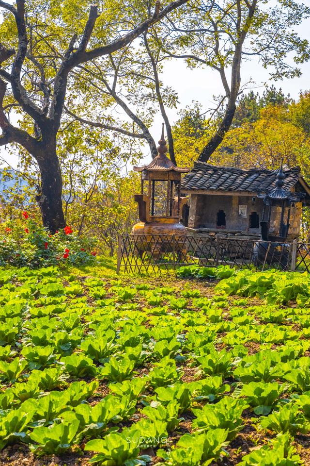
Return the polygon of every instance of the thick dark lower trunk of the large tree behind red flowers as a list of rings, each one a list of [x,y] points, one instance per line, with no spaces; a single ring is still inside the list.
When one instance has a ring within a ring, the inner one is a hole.
[[[35,199],[41,210],[43,225],[55,233],[66,225],[62,210],[62,172],[56,149],[48,151],[46,155],[40,154],[38,165],[41,186]]]

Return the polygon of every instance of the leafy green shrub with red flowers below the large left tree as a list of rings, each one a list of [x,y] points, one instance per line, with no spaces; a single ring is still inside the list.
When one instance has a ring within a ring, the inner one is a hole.
[[[94,241],[77,236],[70,226],[50,234],[24,211],[20,219],[0,224],[0,266],[42,267],[94,261]]]

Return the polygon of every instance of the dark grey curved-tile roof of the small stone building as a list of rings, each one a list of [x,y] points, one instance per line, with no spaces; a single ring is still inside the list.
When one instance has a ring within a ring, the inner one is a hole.
[[[284,171],[284,189],[293,187],[300,177],[300,168],[295,166]],[[194,162],[193,169],[182,180],[182,189],[190,191],[248,191],[259,193],[276,187],[279,168],[241,168],[213,166],[205,162]]]

